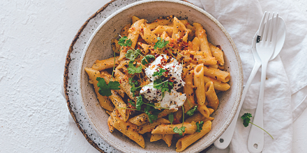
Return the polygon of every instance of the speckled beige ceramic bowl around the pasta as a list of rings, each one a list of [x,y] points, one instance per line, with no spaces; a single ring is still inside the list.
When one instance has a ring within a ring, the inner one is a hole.
[[[230,72],[231,75],[231,88],[218,94],[220,105],[212,115],[215,119],[212,122],[212,129],[209,134],[197,140],[184,152],[204,150],[223,134],[223,131],[227,129],[234,118],[241,99],[243,73],[237,47],[220,22],[201,8],[184,1],[138,1],[132,3],[110,15],[91,35],[87,46],[84,48],[78,72],[81,103],[91,127],[97,131],[103,140],[121,152],[175,152],[176,142],[173,142],[171,147],[167,147],[164,141],[150,143],[149,139],[145,139],[145,148],[143,149],[119,131],[114,131],[111,134],[107,127],[109,115],[98,104],[93,86],[89,83],[89,78],[84,71],[84,67],[91,67],[97,59],[102,60],[112,57],[111,39],[120,33],[123,26],[131,22],[133,15],[140,19],[147,19],[149,22],[158,17],[174,15],[181,19],[188,19],[190,23],[200,23],[207,31],[209,42],[222,47],[225,53],[225,66],[227,72]]]

